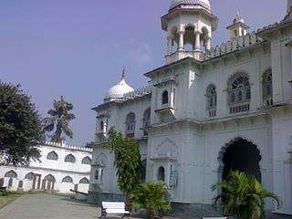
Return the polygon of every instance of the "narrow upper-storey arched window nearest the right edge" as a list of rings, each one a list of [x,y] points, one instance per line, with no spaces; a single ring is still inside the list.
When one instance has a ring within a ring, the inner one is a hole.
[[[267,69],[263,75],[263,99],[265,106],[273,105],[273,78],[271,68]]]

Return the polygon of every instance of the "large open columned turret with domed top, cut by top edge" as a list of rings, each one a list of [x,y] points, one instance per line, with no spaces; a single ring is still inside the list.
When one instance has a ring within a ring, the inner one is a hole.
[[[184,57],[199,59],[203,47],[210,50],[217,25],[209,0],[172,0],[168,14],[162,16],[162,30],[167,32],[166,63]]]

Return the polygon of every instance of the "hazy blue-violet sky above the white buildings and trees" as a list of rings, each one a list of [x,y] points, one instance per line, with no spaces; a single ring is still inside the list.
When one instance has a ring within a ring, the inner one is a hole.
[[[287,1],[210,0],[219,25],[212,45],[229,39],[236,12],[254,31],[280,21]],[[0,0],[0,79],[21,84],[42,117],[53,99],[73,103],[72,145],[94,139],[96,114],[122,68],[134,89],[164,64],[161,29],[171,0]]]

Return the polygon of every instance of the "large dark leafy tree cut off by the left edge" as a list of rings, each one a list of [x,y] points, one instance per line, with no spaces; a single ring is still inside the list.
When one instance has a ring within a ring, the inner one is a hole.
[[[41,119],[20,85],[0,81],[0,161],[28,164],[40,154],[36,145],[43,140]]]

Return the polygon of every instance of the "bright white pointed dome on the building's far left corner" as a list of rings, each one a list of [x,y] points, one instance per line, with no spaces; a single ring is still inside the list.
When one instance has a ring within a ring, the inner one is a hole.
[[[129,93],[134,89],[126,83],[125,78],[121,78],[119,84],[111,87],[106,93],[105,99],[121,99],[125,93]]]

